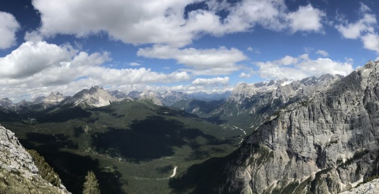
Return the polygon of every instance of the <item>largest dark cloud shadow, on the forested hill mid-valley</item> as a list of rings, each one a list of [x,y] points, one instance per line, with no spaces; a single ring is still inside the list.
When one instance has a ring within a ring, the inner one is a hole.
[[[197,145],[198,137],[204,138],[207,145],[233,143],[218,140],[199,129],[187,129],[178,120],[149,116],[143,120],[134,120],[130,129],[109,128],[106,133],[93,134],[92,146],[97,152],[113,154],[114,157],[151,160],[173,155],[174,147],[187,145],[195,152],[201,146]]]

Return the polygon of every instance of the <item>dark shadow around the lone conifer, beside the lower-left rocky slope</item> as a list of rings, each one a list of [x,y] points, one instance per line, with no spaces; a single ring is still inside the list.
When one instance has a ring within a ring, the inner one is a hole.
[[[51,135],[33,133],[27,136],[31,139],[19,139],[23,146],[27,149],[36,150],[40,155],[44,156],[70,192],[82,193],[87,172],[94,171],[99,181],[101,192],[124,193],[121,187],[128,183],[120,179],[122,176],[118,171],[113,173],[103,172],[99,168],[97,159],[60,151],[60,144],[52,143],[54,140],[50,137]]]

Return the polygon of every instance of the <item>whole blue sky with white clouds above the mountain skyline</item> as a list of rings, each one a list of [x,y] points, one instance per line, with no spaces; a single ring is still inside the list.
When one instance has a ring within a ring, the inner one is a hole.
[[[346,76],[379,59],[378,14],[365,0],[0,0],[0,98]]]

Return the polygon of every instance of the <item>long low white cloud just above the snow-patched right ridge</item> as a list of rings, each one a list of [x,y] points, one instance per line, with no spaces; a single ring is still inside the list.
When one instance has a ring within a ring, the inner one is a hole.
[[[303,79],[309,76],[339,74],[346,76],[353,71],[351,61],[333,61],[329,58],[310,59],[308,54],[296,58],[286,56],[267,62],[255,62],[260,77],[267,79]]]

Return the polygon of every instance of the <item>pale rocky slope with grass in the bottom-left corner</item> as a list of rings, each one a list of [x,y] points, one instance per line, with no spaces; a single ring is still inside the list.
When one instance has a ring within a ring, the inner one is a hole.
[[[38,174],[32,157],[14,133],[0,125],[0,193],[70,193]]]

